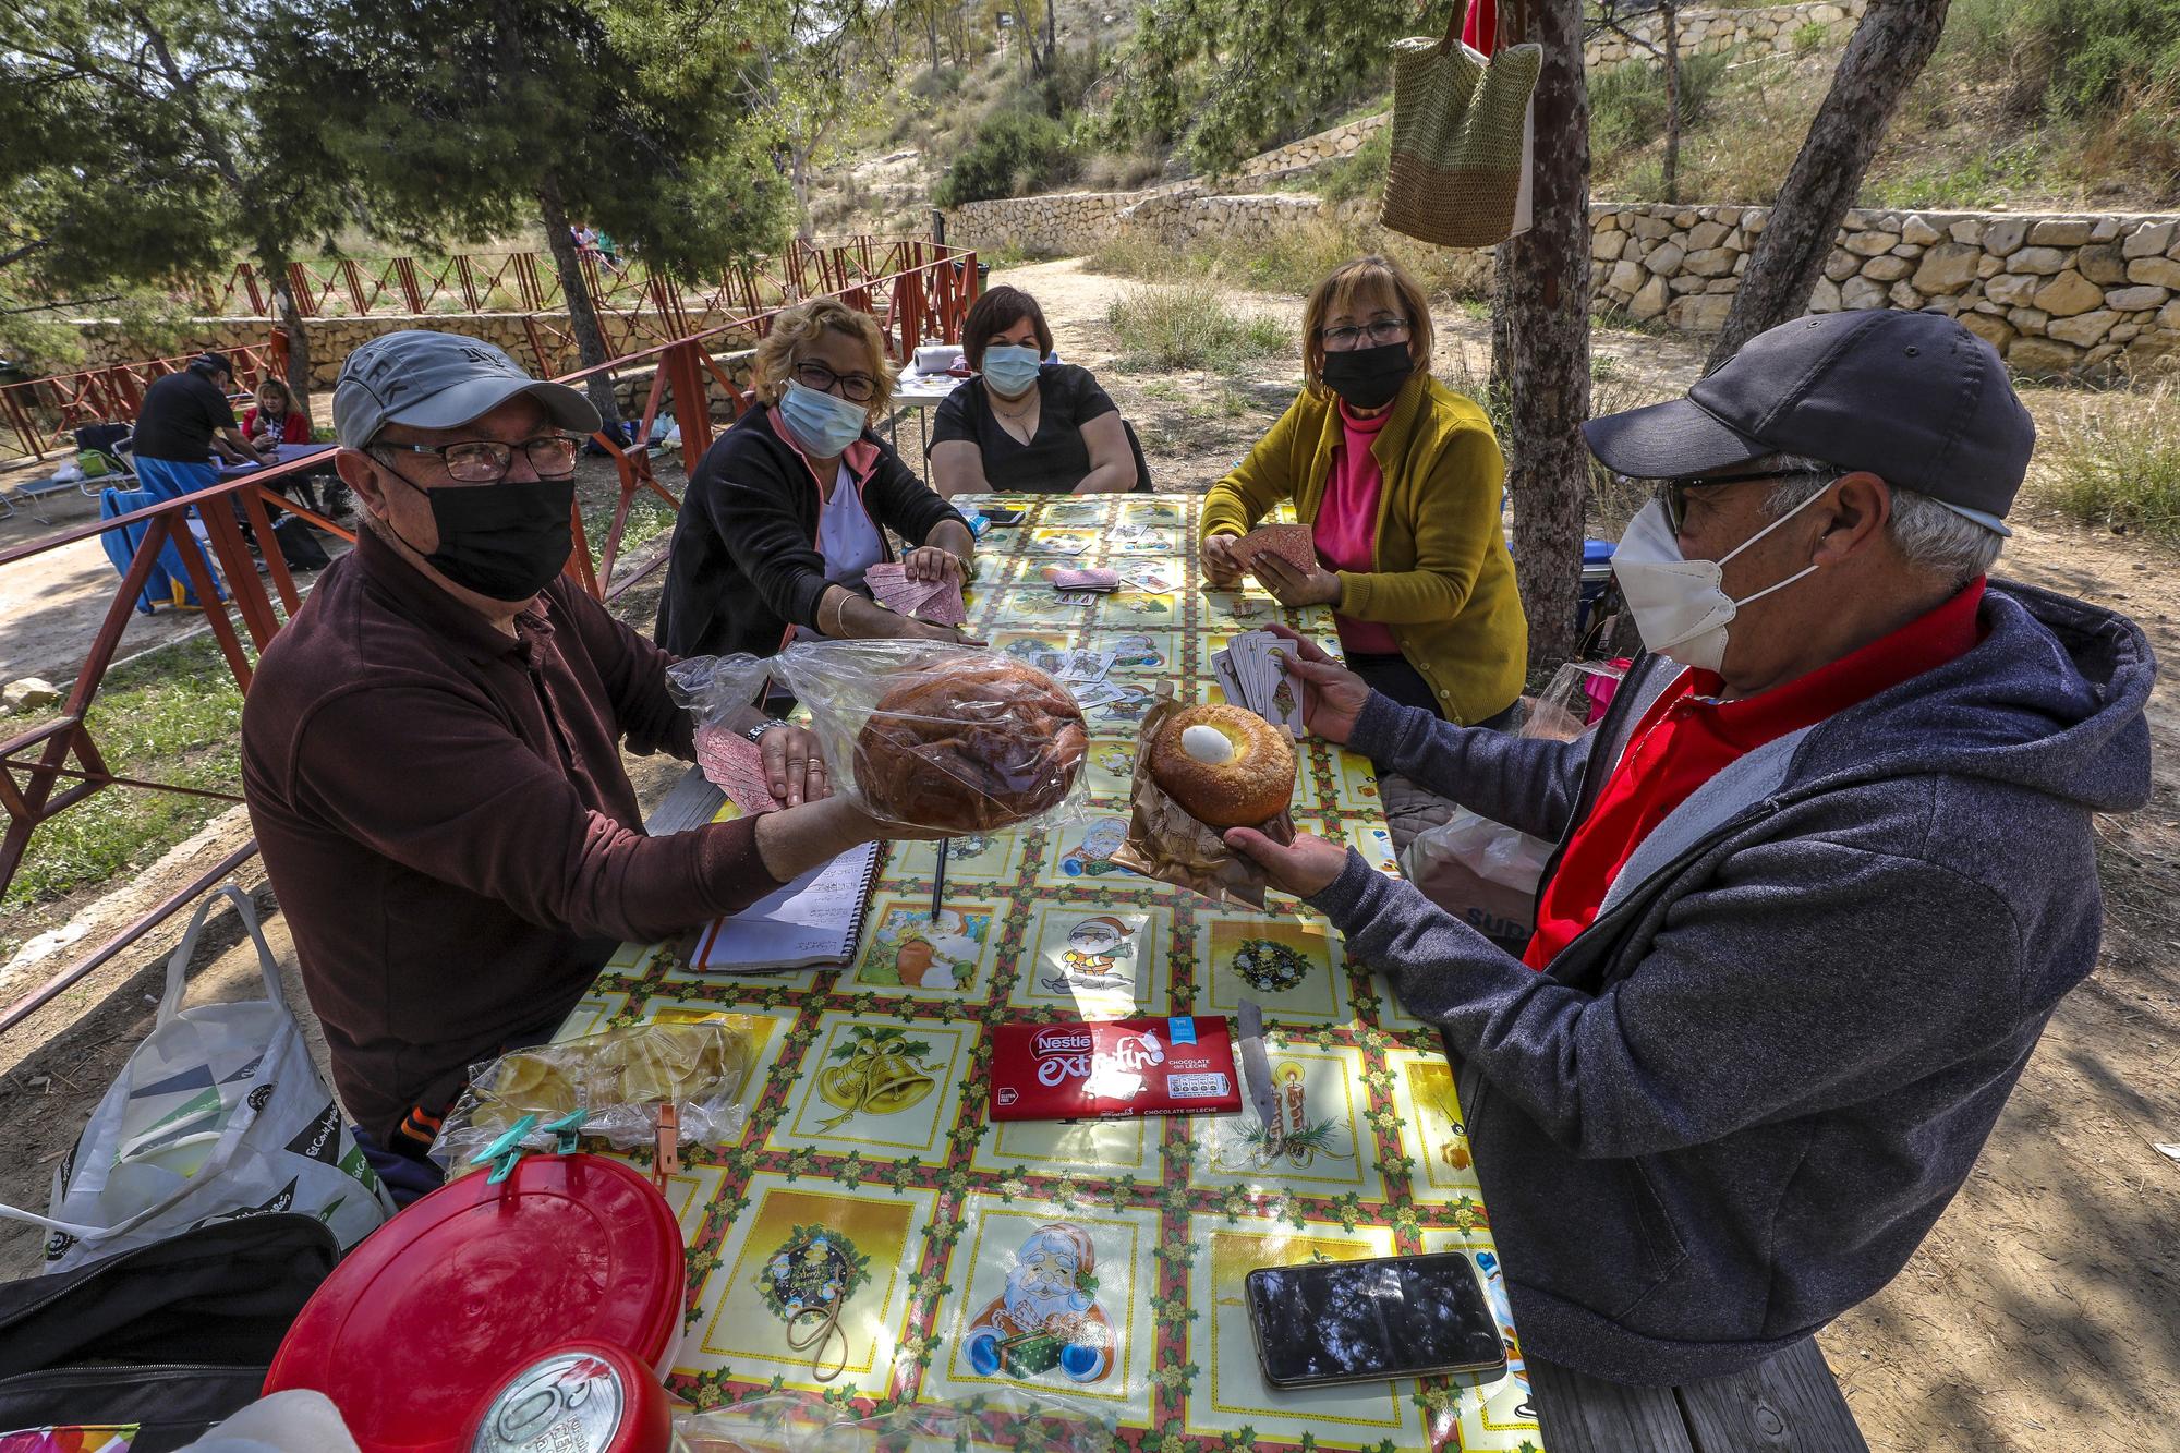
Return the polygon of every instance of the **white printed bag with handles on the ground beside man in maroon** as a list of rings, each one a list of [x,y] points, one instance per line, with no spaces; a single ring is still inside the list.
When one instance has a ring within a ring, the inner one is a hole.
[[[218,903],[207,897],[166,962],[157,1025],[52,1178],[50,1215],[0,1206],[52,1233],[48,1272],[266,1211],[316,1215],[342,1248],[392,1215],[310,1062],[257,910],[233,884],[220,894],[257,942],[266,997],[181,1008],[190,953]]]

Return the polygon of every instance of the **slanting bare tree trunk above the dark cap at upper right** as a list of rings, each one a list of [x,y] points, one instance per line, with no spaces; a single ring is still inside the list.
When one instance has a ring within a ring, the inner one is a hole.
[[[1870,0],[1831,76],[1831,92],[1809,122],[1809,137],[1779,188],[1709,367],[1733,358],[1757,334],[1792,323],[1809,305],[1831,240],[1862,190],[1886,124],[1938,48],[1947,4]]]

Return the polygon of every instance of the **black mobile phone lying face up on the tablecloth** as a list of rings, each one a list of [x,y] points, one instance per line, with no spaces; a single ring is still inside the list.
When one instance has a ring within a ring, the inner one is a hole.
[[[1491,1298],[1461,1252],[1249,1272],[1249,1326],[1273,1388],[1502,1372]]]

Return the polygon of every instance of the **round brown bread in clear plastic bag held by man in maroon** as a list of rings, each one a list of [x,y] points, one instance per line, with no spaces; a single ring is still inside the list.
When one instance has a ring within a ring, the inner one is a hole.
[[[798,641],[772,676],[809,709],[833,790],[881,822],[983,833],[1090,816],[1081,707],[1005,652]]]

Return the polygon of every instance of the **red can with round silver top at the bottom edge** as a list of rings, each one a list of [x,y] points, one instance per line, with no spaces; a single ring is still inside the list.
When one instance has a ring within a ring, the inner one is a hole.
[[[665,1392],[608,1346],[556,1348],[510,1377],[477,1414],[471,1453],[665,1453]]]

